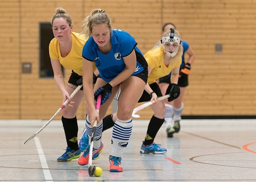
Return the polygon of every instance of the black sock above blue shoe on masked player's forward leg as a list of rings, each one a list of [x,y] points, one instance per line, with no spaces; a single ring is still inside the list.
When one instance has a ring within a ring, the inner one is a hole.
[[[155,136],[157,135],[157,132],[161,128],[163,122],[164,118],[159,119],[154,115],[151,117],[150,122],[148,124],[148,130],[145,137],[145,141],[143,142],[144,145],[149,145],[154,142]]]

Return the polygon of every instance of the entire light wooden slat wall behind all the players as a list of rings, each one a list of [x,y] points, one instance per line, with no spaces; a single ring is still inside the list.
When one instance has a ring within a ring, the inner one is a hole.
[[[39,22],[49,22],[57,6],[71,15],[76,32],[83,17],[103,8],[143,53],[161,37],[161,25],[173,22],[196,53],[183,114],[256,114],[256,0],[0,0],[0,119],[49,119],[60,106],[54,79],[39,79]],[[215,54],[215,44],[223,45],[222,54]],[[32,63],[31,74],[21,73],[24,62]],[[84,111],[85,102],[78,119]],[[140,112],[142,119],[152,114],[150,108]]]

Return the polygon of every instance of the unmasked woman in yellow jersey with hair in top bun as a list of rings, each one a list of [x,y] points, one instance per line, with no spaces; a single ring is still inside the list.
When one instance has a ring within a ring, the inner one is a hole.
[[[77,80],[82,77],[82,48],[87,38],[72,32],[71,17],[63,8],[56,9],[56,15],[52,18],[51,24],[54,38],[49,44],[49,55],[54,71],[54,80],[62,92],[64,102],[70,98],[70,94],[78,86]],[[64,82],[61,65],[72,70],[67,86]],[[76,112],[83,99],[84,92],[79,90],[69,104],[62,109],[61,120],[67,140],[67,149],[57,159],[59,162],[71,161],[80,156],[81,150],[77,143]]]

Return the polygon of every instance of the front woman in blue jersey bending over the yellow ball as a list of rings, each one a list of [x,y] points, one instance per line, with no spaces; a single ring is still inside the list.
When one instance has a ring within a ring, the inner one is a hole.
[[[83,21],[84,33],[90,38],[84,45],[83,86],[87,102],[88,116],[86,130],[89,141],[92,126],[97,119],[93,154],[99,153],[101,142],[102,118],[112,103],[116,92],[121,89],[118,100],[117,121],[114,124],[111,151],[110,172],[122,172],[121,157],[132,131],[131,114],[143,93],[148,77],[148,65],[143,54],[136,47],[137,43],[129,33],[120,29],[112,29],[110,17],[104,10],[92,10]],[[99,70],[99,77],[93,89],[93,62]],[[99,114],[95,109],[95,100],[101,94]],[[80,165],[86,165],[89,157],[89,146],[78,159]]]

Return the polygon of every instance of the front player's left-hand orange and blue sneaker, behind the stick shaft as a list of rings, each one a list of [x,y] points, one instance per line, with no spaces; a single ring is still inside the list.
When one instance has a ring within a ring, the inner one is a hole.
[[[99,149],[93,149],[93,160],[99,159],[99,154],[103,151],[103,143],[101,142],[101,146]],[[89,162],[89,151],[90,151],[90,145],[88,145],[82,154],[80,155],[78,159],[78,164],[79,165],[86,165]]]

